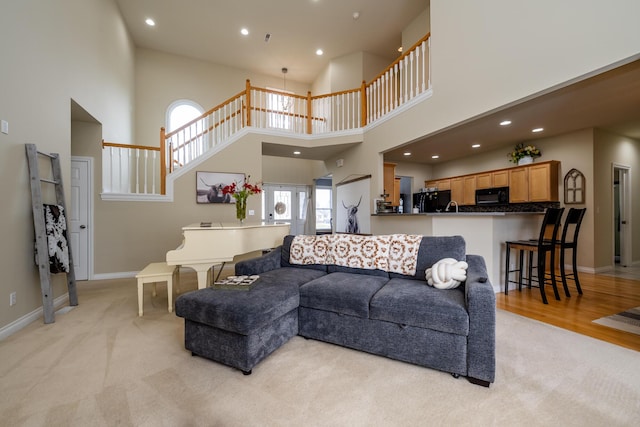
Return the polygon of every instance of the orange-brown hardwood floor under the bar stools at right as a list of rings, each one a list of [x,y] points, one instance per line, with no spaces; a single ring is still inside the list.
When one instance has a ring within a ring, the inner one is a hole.
[[[625,277],[580,273],[583,294],[579,295],[569,281],[571,297],[564,296],[559,284],[561,301],[547,289],[549,304],[542,303],[538,288],[524,288],[522,292],[509,290],[496,294],[496,306],[521,316],[549,323],[612,344],[640,351],[640,335],[593,323],[593,320],[640,306],[640,280]],[[640,279],[640,277],[639,277]]]

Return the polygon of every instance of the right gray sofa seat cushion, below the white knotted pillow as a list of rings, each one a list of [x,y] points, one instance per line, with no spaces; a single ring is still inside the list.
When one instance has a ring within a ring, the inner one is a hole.
[[[408,278],[389,280],[371,299],[369,317],[457,335],[469,334],[469,314],[461,288],[435,289]]]

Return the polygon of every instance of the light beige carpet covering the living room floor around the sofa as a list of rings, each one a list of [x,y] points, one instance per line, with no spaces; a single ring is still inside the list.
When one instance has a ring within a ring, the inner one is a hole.
[[[192,284],[193,285],[193,284]],[[184,287],[184,284],[183,284]],[[188,287],[188,285],[187,285]],[[80,282],[80,305],[0,342],[2,426],[623,426],[640,353],[498,311],[491,388],[295,337],[244,376],[192,357],[164,285]]]

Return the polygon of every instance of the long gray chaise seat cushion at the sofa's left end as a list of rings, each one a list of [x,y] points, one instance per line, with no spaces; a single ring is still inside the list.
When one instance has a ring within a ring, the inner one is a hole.
[[[279,268],[261,274],[249,291],[206,288],[189,292],[176,299],[176,315],[248,335],[296,309],[300,302],[298,287],[324,274]]]

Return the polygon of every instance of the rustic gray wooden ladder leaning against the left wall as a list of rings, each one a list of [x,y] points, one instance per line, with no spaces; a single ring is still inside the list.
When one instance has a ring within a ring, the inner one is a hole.
[[[53,311],[53,289],[51,288],[51,271],[49,267],[49,245],[47,243],[47,232],[45,224],[44,205],[42,202],[42,183],[53,184],[55,186],[56,203],[64,210],[64,220],[67,232],[69,222],[67,220],[67,209],[64,203],[64,191],[62,188],[62,171],[60,169],[60,156],[57,153],[43,153],[37,150],[35,144],[26,144],[27,162],[29,165],[29,178],[31,182],[31,205],[33,209],[33,227],[35,231],[36,263],[40,273],[40,288],[42,290],[42,307],[44,311],[44,323],[55,322]],[[38,165],[38,155],[51,160],[51,175],[53,179],[40,178],[40,168]],[[69,305],[78,305],[78,295],[76,292],[76,278],[71,255],[71,243],[67,240],[69,256],[69,271],[67,274],[67,287],[69,290]]]

